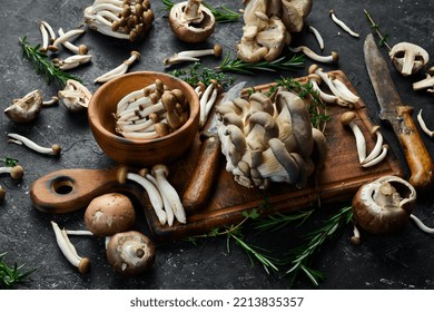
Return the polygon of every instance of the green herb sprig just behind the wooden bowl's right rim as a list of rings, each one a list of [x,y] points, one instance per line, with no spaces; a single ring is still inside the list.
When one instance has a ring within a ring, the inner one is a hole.
[[[215,70],[204,67],[199,71],[200,62],[195,62],[187,69],[175,69],[170,74],[178,77],[191,86],[197,86],[198,82],[204,82],[206,86],[210,84],[210,80],[215,79],[219,81],[223,88],[227,88],[236,80],[235,77],[228,76],[225,72],[216,72]]]

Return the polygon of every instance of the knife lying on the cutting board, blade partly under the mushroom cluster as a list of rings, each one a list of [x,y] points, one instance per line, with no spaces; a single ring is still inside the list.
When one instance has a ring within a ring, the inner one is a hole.
[[[246,81],[231,87],[220,103],[240,97]],[[183,206],[187,214],[204,208],[218,170],[218,159],[221,154],[220,140],[217,135],[217,115],[215,114],[207,130],[200,134],[200,150],[195,170],[183,195]]]

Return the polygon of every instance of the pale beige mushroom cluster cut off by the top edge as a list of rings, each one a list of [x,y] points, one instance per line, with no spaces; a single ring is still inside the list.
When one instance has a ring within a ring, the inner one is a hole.
[[[277,59],[289,46],[290,32],[299,32],[312,10],[312,0],[250,0],[244,11],[237,56],[246,62]]]

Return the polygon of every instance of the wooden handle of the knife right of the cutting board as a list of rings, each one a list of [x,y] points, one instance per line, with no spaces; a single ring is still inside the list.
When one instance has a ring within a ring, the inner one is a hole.
[[[433,162],[413,121],[413,108],[398,106],[397,115],[402,119],[397,136],[411,172],[408,182],[416,189],[427,189],[433,185]]]

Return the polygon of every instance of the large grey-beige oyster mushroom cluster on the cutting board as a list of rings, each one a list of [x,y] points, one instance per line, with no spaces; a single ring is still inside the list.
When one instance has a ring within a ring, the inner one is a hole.
[[[221,103],[216,111],[226,169],[243,186],[286,182],[302,188],[325,162],[326,138],[312,127],[306,104],[294,92],[256,91]]]

